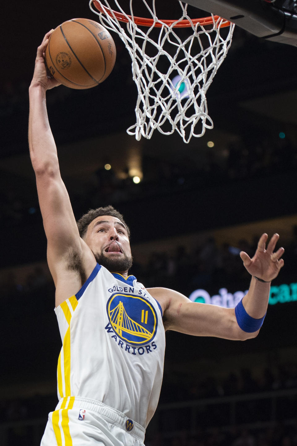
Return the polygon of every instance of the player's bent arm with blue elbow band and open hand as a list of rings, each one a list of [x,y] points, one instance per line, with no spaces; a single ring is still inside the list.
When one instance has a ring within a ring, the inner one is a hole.
[[[252,259],[245,252],[240,252],[252,280],[248,293],[235,309],[191,302],[173,290],[149,289],[151,295],[163,306],[164,326],[167,330],[225,339],[244,340],[255,337],[266,314],[270,283],[284,264],[281,259],[284,248],[274,252],[278,234],[273,235],[266,249],[267,238],[267,234],[260,237]]]

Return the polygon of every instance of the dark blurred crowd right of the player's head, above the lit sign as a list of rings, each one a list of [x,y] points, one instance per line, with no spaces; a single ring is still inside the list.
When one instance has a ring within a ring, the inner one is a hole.
[[[285,245],[286,273],[294,271],[297,259],[297,227],[292,232],[292,240]],[[258,240],[256,235],[253,243],[241,239],[232,246],[227,242],[218,244],[209,237],[192,250],[179,246],[173,254],[152,252],[144,267],[134,265],[133,273],[148,287],[165,286],[183,290],[183,293],[230,282],[247,283],[249,274],[242,266],[239,253],[245,251],[252,257]],[[184,277],[187,277],[187,283],[184,283]]]

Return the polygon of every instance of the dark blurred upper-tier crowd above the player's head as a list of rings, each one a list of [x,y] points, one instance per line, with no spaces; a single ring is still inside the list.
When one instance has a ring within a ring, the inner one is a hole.
[[[209,149],[199,167],[173,165],[143,157],[143,179],[135,184],[126,172],[126,178],[118,178],[113,169],[97,169],[84,186],[69,194],[76,215],[102,204],[129,203],[160,195],[180,192],[203,191],[207,187],[236,183],[249,178],[265,178],[281,173],[292,173],[297,168],[297,147],[289,138],[242,140],[230,144],[228,149]],[[34,224],[39,215],[36,190],[15,177],[10,188],[6,187],[8,173],[0,179],[0,227]],[[32,189],[32,190],[31,190]]]

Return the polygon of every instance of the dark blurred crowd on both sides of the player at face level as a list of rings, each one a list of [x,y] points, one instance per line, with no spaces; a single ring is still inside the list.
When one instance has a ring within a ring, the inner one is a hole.
[[[239,257],[240,251],[253,256],[257,248],[259,235],[252,243],[245,239],[238,240],[235,246],[227,242],[217,243],[214,237],[197,243],[191,249],[184,245],[177,246],[172,252],[151,252],[145,264],[134,261],[130,273],[146,287],[163,286],[177,289],[189,295],[194,289],[230,283],[248,285],[249,274],[243,268]],[[284,245],[284,274],[294,273],[297,260],[297,226],[292,228],[292,239]],[[133,251],[133,247],[132,247]],[[187,277],[187,281],[183,278]],[[45,267],[32,267],[24,281],[18,283],[13,270],[6,274],[1,289],[4,295],[26,294],[52,283]],[[243,286],[243,285],[242,285]],[[51,290],[52,291],[52,290]],[[216,290],[217,291],[217,290]],[[244,291],[244,289],[242,289]]]

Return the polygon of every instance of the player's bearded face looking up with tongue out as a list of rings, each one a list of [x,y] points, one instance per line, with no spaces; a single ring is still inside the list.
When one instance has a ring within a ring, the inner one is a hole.
[[[116,217],[94,219],[84,237],[97,262],[113,273],[126,273],[132,266],[130,242],[125,225]]]

